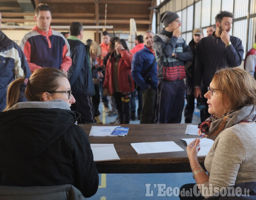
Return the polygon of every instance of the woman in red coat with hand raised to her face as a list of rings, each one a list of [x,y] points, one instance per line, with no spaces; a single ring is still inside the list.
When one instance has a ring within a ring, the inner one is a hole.
[[[130,123],[130,93],[134,91],[131,62],[132,55],[128,48],[125,50],[121,41],[116,40],[115,50],[107,61],[103,88],[106,93],[111,93],[115,98],[120,124]]]

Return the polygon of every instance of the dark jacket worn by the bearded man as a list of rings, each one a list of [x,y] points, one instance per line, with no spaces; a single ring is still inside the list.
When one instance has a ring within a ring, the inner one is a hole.
[[[243,60],[242,41],[230,36],[231,45],[225,47],[220,37],[213,35],[202,38],[196,48],[194,86],[209,86],[214,73],[222,68],[237,67]]]

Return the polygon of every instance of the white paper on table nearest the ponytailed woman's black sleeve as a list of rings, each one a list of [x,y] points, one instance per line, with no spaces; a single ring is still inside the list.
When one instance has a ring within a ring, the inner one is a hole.
[[[114,144],[91,144],[91,149],[94,161],[120,160]]]

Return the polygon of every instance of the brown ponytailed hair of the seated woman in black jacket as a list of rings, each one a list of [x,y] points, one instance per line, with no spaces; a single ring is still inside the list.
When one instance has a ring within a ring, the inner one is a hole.
[[[67,76],[60,70],[52,67],[44,67],[34,71],[30,76],[27,87],[25,90],[25,96],[28,101],[43,101],[42,95],[46,91],[55,91],[59,87],[59,78]],[[20,86],[25,81],[24,78],[18,78],[11,82],[7,90],[6,111],[17,103]]]

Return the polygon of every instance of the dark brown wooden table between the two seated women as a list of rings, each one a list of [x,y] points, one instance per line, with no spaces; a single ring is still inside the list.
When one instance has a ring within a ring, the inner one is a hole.
[[[81,124],[87,135],[92,125]],[[106,125],[104,125],[106,126]],[[125,137],[94,137],[90,136],[90,143],[114,144],[120,160],[96,162],[99,173],[172,173],[191,172],[186,153],[186,143],[181,138],[194,138],[195,135],[185,135],[187,124],[125,124],[129,127]],[[131,143],[174,141],[184,151],[137,154]],[[198,157],[204,167],[205,157]]]

